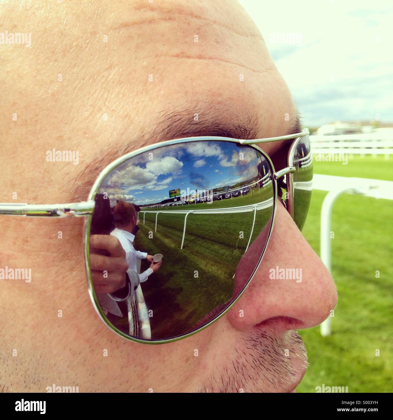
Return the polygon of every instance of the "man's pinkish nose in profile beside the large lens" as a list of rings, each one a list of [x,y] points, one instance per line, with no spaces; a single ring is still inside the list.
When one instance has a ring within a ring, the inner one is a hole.
[[[240,260],[236,276],[248,275],[245,273],[253,267],[247,265],[260,253],[257,239]],[[265,325],[282,333],[322,323],[336,303],[332,276],[278,203],[264,258],[248,288],[228,312],[229,321],[240,330]]]

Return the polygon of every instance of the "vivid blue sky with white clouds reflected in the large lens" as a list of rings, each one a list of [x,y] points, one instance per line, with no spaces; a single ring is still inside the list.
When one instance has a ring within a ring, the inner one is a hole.
[[[241,155],[240,155],[241,153]],[[123,199],[139,205],[169,198],[169,190],[214,189],[257,175],[256,151],[228,142],[189,142],[131,158],[112,171],[98,192],[111,205]],[[188,191],[188,192],[187,192]]]

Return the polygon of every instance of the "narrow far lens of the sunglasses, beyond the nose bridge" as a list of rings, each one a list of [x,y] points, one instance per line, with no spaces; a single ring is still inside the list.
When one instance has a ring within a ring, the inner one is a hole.
[[[313,160],[309,136],[302,137],[296,145],[293,165],[296,167],[293,173],[293,220],[302,230],[312,192]]]

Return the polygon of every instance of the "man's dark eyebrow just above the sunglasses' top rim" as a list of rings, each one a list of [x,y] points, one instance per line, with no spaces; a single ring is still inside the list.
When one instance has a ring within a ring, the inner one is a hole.
[[[155,139],[154,143],[198,136],[219,136],[240,140],[255,140],[257,138],[257,134],[261,131],[260,121],[262,115],[251,112],[244,112],[242,116],[239,114],[233,115],[232,108],[228,109],[226,113],[226,106],[220,105],[219,107],[211,108],[211,106],[203,105],[204,103],[211,105],[211,102],[202,102],[202,105],[195,108],[185,107],[175,110],[172,108],[172,110],[159,111],[153,126],[148,127],[148,129],[135,136],[137,144],[131,141],[125,142],[123,147],[119,147],[118,143],[113,143],[113,145],[105,148],[108,149],[105,152],[102,150],[98,152],[91,163],[86,165],[77,176],[79,181],[81,181],[81,186],[75,185],[76,178],[71,180],[73,181],[72,187],[75,187],[74,200],[80,199],[90,192],[95,181],[92,178],[98,177],[107,165],[118,157],[152,144],[149,141],[151,138]],[[295,108],[295,116],[286,132],[277,133],[277,136],[300,132],[301,116],[298,109]],[[285,147],[285,144],[287,143],[283,142],[282,146],[275,153]]]

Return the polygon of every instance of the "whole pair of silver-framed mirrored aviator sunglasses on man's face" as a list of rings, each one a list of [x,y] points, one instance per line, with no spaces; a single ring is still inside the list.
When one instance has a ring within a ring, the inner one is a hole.
[[[289,147],[285,167],[276,171],[256,144],[277,141]],[[100,173],[86,202],[1,203],[0,214],[85,217],[96,312],[124,338],[160,344],[201,331],[235,304],[261,264],[277,201],[303,228],[312,178],[308,129],[268,139],[190,137],[119,157]],[[93,281],[90,237],[110,234],[127,252],[126,297],[98,293]],[[158,270],[149,270],[159,261]]]

